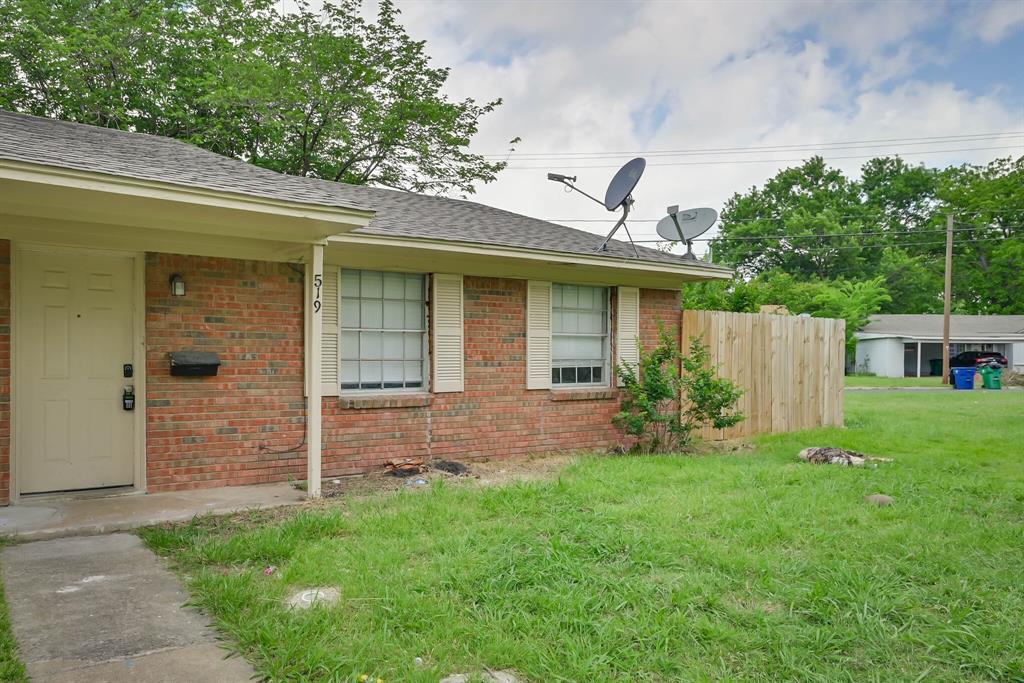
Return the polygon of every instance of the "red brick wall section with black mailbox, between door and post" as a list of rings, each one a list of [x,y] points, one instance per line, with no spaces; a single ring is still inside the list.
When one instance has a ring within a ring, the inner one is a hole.
[[[180,273],[185,296],[168,281]],[[286,263],[148,254],[150,492],[305,476],[302,275]],[[217,377],[172,377],[168,353],[216,351]]]

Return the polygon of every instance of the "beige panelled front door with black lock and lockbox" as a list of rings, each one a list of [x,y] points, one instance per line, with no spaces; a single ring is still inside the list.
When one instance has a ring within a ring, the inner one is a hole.
[[[20,493],[132,484],[132,257],[24,249],[15,269]]]

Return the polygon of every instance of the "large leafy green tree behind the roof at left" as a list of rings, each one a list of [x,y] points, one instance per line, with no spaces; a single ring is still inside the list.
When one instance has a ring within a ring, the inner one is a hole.
[[[0,108],[166,135],[289,173],[471,194],[501,103],[453,101],[392,0],[0,0]]]

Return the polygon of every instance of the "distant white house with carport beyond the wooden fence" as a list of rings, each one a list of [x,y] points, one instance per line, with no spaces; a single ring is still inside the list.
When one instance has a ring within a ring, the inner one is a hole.
[[[942,315],[872,315],[856,333],[858,372],[881,377],[942,374]],[[1024,371],[1024,315],[951,315],[949,355],[999,351]],[[938,360],[938,370],[934,369]]]

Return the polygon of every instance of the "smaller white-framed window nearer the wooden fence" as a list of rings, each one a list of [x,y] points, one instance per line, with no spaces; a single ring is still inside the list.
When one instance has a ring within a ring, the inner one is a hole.
[[[608,288],[551,286],[552,385],[608,383]]]

